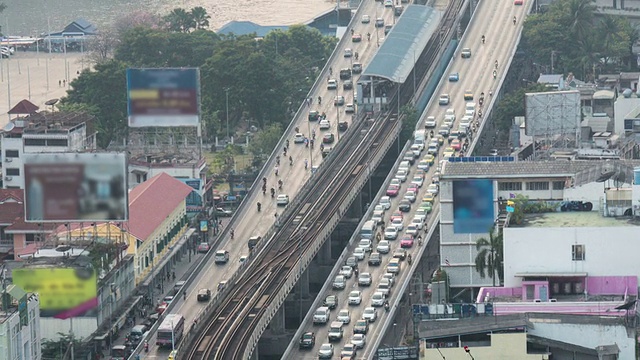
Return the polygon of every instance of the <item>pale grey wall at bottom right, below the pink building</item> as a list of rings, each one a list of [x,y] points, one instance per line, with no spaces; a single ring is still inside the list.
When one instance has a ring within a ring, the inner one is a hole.
[[[595,349],[600,345],[617,344],[620,349],[618,359],[635,359],[635,339],[627,334],[622,325],[569,323],[566,320],[530,318],[533,326],[528,328],[531,335]]]

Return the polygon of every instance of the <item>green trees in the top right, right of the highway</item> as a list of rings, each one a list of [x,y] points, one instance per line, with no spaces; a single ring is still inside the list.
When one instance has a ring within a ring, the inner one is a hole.
[[[602,72],[630,69],[631,46],[637,39],[629,20],[596,16],[592,0],[558,0],[543,14],[527,18],[521,49],[533,62],[550,66],[556,73],[573,72],[593,80]]]

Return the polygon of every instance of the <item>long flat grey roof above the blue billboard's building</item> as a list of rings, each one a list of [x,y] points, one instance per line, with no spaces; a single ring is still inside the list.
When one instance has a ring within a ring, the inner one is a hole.
[[[632,171],[638,166],[640,160],[449,162],[444,167],[442,179],[574,177],[585,170],[598,170],[598,167],[626,167]]]

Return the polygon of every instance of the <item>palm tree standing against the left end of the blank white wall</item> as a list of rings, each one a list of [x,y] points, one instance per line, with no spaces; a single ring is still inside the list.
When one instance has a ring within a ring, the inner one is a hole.
[[[476,271],[481,278],[486,276],[493,279],[493,286],[496,286],[496,273],[500,283],[504,275],[504,264],[502,263],[504,250],[502,247],[502,230],[496,229],[495,225],[489,230],[489,239],[480,238],[476,240]]]

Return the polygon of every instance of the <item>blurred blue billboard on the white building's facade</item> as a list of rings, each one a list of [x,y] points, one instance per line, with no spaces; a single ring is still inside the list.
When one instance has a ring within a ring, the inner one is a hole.
[[[495,214],[493,180],[473,179],[453,182],[453,232],[487,233]]]

